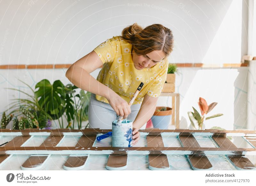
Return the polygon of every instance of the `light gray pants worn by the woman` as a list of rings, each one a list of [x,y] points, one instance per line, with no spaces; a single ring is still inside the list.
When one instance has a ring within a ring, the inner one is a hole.
[[[128,115],[127,120],[135,120],[140,106],[141,104],[131,105],[131,113]],[[95,94],[91,94],[88,112],[90,128],[112,129],[112,121],[118,119],[114,109],[108,103],[97,100]],[[146,125],[147,123],[140,129],[145,129]]]

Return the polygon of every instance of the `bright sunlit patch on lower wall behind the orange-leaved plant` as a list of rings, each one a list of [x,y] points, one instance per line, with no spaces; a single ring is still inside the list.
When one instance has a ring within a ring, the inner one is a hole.
[[[199,97],[203,97],[207,104],[218,102],[218,105],[206,116],[223,113],[223,116],[205,121],[206,128],[219,126],[233,130],[234,124],[234,82],[238,75],[237,69],[198,70],[190,83],[184,99],[180,103],[180,115],[188,119],[188,111],[192,106],[200,112],[197,104]]]

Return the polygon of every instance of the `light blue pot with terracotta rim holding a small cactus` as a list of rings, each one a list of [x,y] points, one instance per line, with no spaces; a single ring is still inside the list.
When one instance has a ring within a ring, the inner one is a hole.
[[[156,111],[151,117],[154,128],[168,129],[172,118],[172,108],[156,107]]]

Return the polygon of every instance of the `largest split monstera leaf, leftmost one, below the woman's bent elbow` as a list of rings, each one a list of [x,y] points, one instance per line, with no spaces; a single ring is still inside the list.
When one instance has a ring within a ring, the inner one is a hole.
[[[64,85],[60,80],[56,80],[51,84],[44,79],[36,84],[36,99],[38,104],[46,110],[53,118],[60,118],[64,113],[63,99],[65,98]]]

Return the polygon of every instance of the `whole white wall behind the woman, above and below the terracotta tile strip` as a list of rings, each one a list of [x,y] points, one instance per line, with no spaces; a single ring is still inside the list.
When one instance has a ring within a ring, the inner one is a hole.
[[[74,63],[102,41],[120,35],[124,27],[134,22],[142,26],[160,23],[172,29],[175,48],[170,63],[240,63],[241,53],[245,54],[247,41],[241,42],[241,34],[244,37],[242,0],[143,0],[136,3],[120,0],[1,1],[0,65]],[[181,127],[188,122],[187,112],[192,106],[198,108],[199,97],[204,97],[208,103],[219,102],[212,113],[224,113],[220,118],[209,120],[208,126],[246,127],[246,108],[238,117],[247,94],[246,67],[231,70],[179,68],[179,71],[176,91],[181,95]],[[3,88],[22,86],[13,83],[15,77],[34,86],[44,78],[51,82],[62,79],[65,84],[68,81],[62,75],[61,70],[0,70],[1,97],[7,97],[1,100],[0,111],[5,110],[13,94]],[[161,97],[158,105],[167,104],[169,100],[171,98]]]

